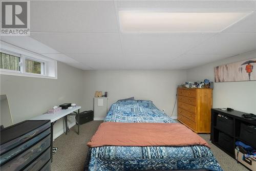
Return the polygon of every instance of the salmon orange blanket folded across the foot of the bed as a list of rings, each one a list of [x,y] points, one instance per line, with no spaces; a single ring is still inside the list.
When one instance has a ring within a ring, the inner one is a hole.
[[[103,122],[87,144],[99,146],[190,146],[209,144],[180,123]]]

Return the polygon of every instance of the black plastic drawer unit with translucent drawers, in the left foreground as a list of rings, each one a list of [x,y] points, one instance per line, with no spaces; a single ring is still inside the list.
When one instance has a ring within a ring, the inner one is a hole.
[[[0,169],[51,170],[50,120],[26,120],[1,131]]]

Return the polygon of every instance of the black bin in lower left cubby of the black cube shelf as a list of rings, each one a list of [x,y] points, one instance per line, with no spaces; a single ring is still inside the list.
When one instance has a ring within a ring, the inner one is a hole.
[[[219,132],[219,145],[230,153],[234,153],[233,138],[225,133]]]

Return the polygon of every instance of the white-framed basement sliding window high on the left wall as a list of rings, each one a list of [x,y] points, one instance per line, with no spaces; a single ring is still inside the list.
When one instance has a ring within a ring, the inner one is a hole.
[[[1,42],[0,74],[57,79],[57,61]]]

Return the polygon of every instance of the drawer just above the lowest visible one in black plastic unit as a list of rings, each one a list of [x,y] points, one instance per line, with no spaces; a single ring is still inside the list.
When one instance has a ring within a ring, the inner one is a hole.
[[[24,153],[18,155],[13,158],[9,162],[5,163],[1,166],[1,170],[21,170],[27,164],[29,164],[34,158],[39,156],[42,152],[44,152],[47,148],[50,147],[51,144],[51,136],[48,135],[46,138],[39,141],[34,146],[27,149]]]

